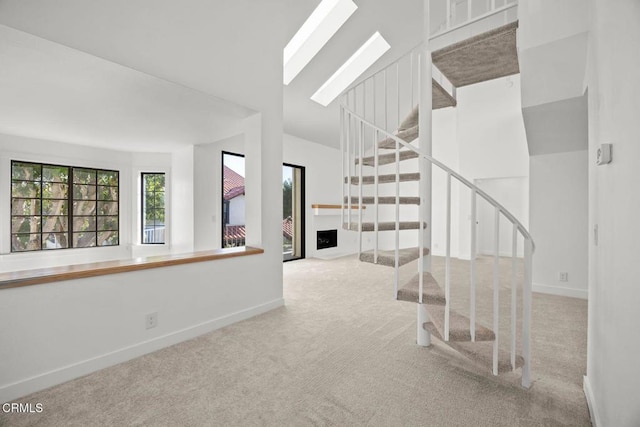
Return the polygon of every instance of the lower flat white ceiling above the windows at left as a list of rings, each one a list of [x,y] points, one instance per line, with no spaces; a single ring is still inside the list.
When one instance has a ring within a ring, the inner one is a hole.
[[[0,132],[131,151],[210,142],[250,111],[0,25]]]

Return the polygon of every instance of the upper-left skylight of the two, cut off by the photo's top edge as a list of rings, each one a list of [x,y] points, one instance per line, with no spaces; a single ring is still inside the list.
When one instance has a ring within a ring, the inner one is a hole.
[[[320,2],[284,48],[284,84],[291,83],[357,8],[352,0]]]

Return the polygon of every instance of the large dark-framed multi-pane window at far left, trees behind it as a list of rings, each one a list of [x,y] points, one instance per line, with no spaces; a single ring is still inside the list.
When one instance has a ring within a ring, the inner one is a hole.
[[[119,244],[118,172],[11,162],[11,252]]]

